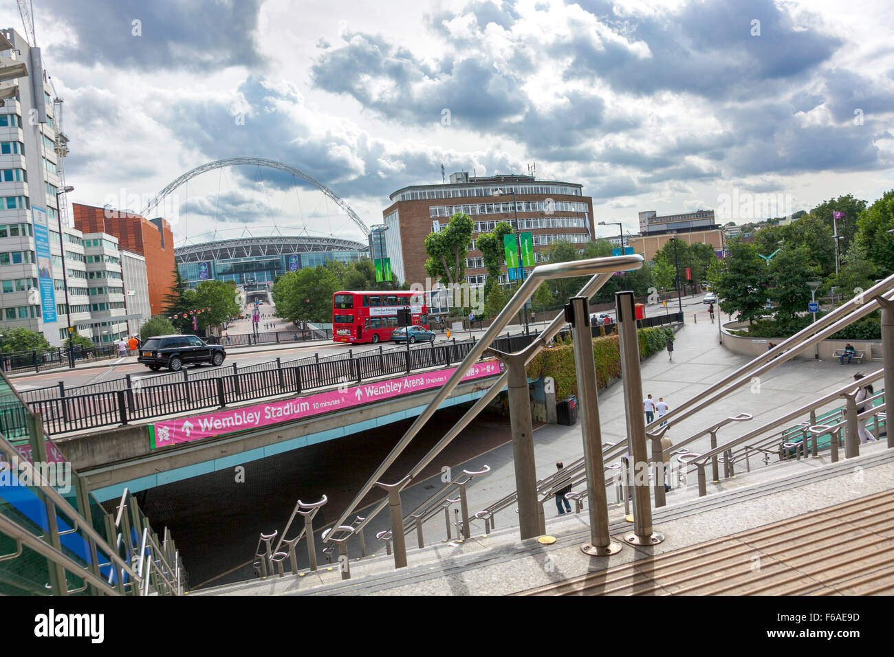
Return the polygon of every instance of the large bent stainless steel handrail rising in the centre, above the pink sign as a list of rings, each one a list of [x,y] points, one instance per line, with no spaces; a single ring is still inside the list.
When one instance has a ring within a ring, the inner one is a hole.
[[[366,497],[367,493],[369,493],[369,491],[371,491],[375,486],[375,483],[381,479],[387,469],[391,467],[392,463],[401,455],[401,452],[406,449],[409,442],[412,441],[412,439],[419,432],[419,429],[421,429],[422,426],[425,425],[426,422],[432,417],[432,415],[434,415],[434,411],[441,406],[443,400],[446,400],[450,393],[453,392],[456,386],[460,383],[460,379],[463,377],[463,375],[465,375],[468,367],[474,365],[477,362],[478,358],[481,358],[485,350],[490,347],[491,342],[493,342],[493,340],[499,336],[503,327],[505,327],[506,324],[509,324],[510,319],[512,319],[512,317],[514,317],[516,313],[518,313],[519,309],[525,303],[527,303],[527,299],[529,299],[534,294],[536,289],[540,286],[540,283],[556,278],[568,278],[572,276],[587,274],[593,275],[594,278],[592,278],[586,284],[585,289],[582,290],[580,294],[580,296],[586,296],[588,298],[592,296],[592,294],[594,294],[595,291],[597,291],[600,287],[602,287],[605,282],[608,281],[608,279],[611,277],[611,274],[613,274],[614,272],[633,271],[639,269],[643,266],[643,262],[644,258],[642,256],[632,255],[616,257],[596,257],[567,263],[556,263],[554,265],[536,266],[531,271],[531,274],[527,277],[525,282],[521,284],[519,290],[516,291],[514,295],[512,295],[512,298],[510,299],[509,303],[506,304],[506,307],[504,307],[500,314],[493,320],[493,324],[490,325],[484,336],[482,336],[481,340],[477,341],[476,345],[471,351],[469,351],[466,358],[464,358],[460,365],[457,366],[456,371],[453,373],[453,375],[451,375],[447,383],[444,383],[443,387],[434,396],[434,400],[431,400],[428,403],[426,409],[416,418],[416,421],[413,422],[407,432],[403,435],[403,437],[401,437],[401,440],[394,446],[388,456],[385,457],[382,464],[375,469],[375,472],[372,476],[369,477],[367,483],[360,488],[360,491],[357,493],[354,499],[350,501],[347,510],[345,510],[335,522],[335,526],[341,526],[345,522],[345,520],[347,520],[350,514],[357,509],[360,501],[362,501],[363,498]],[[595,274],[603,275],[598,276]],[[597,282],[599,283],[598,285],[596,285]],[[552,337],[555,335],[555,333],[559,332],[561,326],[564,325],[563,319],[561,319],[560,323],[560,318],[563,317],[563,314],[557,316],[556,319],[552,321],[552,324],[550,324],[547,331],[544,331],[544,333],[540,334],[538,340],[542,341],[542,346],[539,349],[542,349],[546,345],[547,341],[552,340]],[[552,334],[548,335],[548,332],[551,330]],[[536,350],[534,350],[534,352],[532,353],[531,358],[533,358],[535,354]],[[498,383],[502,382],[502,384],[505,385],[507,380],[508,375],[503,374],[498,380]],[[496,392],[493,392],[491,399],[493,399],[493,397],[495,397],[497,392],[499,392],[501,389],[502,388],[497,389]],[[493,391],[493,388],[491,390]],[[461,421],[462,420],[460,420],[460,422]],[[443,445],[442,442],[444,443]],[[426,455],[423,460],[433,459],[434,456],[439,451],[441,451],[444,446],[446,446],[446,443],[450,441],[448,440],[444,442],[444,440],[442,440],[442,442],[439,442],[438,445],[435,445],[432,451],[429,452],[429,455]],[[434,451],[435,449],[437,449],[437,451]],[[413,469],[418,471],[419,466]],[[378,513],[380,510],[384,509],[387,504],[388,501],[384,500],[379,505],[377,505],[375,510],[367,515],[366,522],[369,522],[369,520],[373,518],[375,514]],[[324,540],[328,541],[328,537]]]

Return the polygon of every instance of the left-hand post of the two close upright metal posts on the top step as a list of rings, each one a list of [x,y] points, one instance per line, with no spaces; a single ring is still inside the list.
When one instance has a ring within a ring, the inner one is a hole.
[[[587,305],[586,297],[572,297],[565,307],[565,319],[572,327],[574,366],[578,374],[581,433],[584,440],[586,494],[590,498],[590,541],[581,545],[580,549],[591,556],[604,557],[620,552],[621,544],[612,541],[609,534],[608,500],[605,495],[603,471],[603,437],[599,425],[596,367]],[[527,375],[525,385],[527,388]]]

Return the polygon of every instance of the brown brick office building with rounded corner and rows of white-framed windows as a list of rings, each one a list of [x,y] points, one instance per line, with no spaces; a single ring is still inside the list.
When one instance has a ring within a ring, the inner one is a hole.
[[[392,205],[383,212],[388,227],[384,255],[391,258],[397,279],[410,283],[426,282],[426,236],[438,224],[446,225],[457,212],[466,213],[475,223],[466,261],[466,280],[471,285],[484,284],[486,273],[475,240],[479,233],[493,231],[498,222],[510,223],[517,232],[533,233],[536,262],[542,261],[542,249],[556,240],[584,248],[593,240],[595,229],[593,200],[582,195],[581,185],[539,181],[530,175],[470,177],[453,173],[449,183],[405,187],[390,198]],[[505,271],[504,265],[502,282],[507,280]]]

